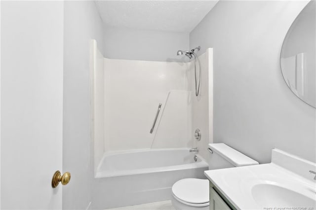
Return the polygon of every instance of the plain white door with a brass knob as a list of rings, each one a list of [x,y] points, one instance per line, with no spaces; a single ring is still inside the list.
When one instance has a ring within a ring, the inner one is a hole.
[[[63,7],[1,1],[1,209],[62,208]]]

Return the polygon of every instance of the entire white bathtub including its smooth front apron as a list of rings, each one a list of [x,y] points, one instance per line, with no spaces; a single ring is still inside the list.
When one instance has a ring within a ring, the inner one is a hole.
[[[93,180],[92,208],[109,209],[171,199],[182,178],[206,178],[208,164],[189,148],[142,149],[104,154]]]

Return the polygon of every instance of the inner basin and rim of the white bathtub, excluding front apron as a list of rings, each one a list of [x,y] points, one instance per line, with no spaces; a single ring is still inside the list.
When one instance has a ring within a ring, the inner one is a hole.
[[[144,149],[107,153],[99,164],[96,178],[137,175],[182,169],[208,167],[207,163],[188,148]]]

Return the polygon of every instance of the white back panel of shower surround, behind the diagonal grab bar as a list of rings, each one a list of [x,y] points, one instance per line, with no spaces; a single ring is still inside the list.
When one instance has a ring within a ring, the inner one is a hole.
[[[165,127],[169,129],[164,129],[163,136],[169,139],[156,139],[155,145],[188,145],[183,131],[189,129],[190,109],[188,94],[181,91],[188,91],[189,63],[105,59],[104,65],[105,151],[151,148],[157,129],[163,126],[161,116],[168,119]],[[167,98],[169,93],[171,97]],[[159,103],[162,106],[157,124],[150,134]],[[166,104],[168,110],[164,112]]]

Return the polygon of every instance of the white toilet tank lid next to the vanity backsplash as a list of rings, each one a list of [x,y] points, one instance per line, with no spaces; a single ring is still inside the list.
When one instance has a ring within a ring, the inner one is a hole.
[[[259,163],[250,157],[238,152],[225,143],[210,143],[208,147],[236,167],[258,165]]]

